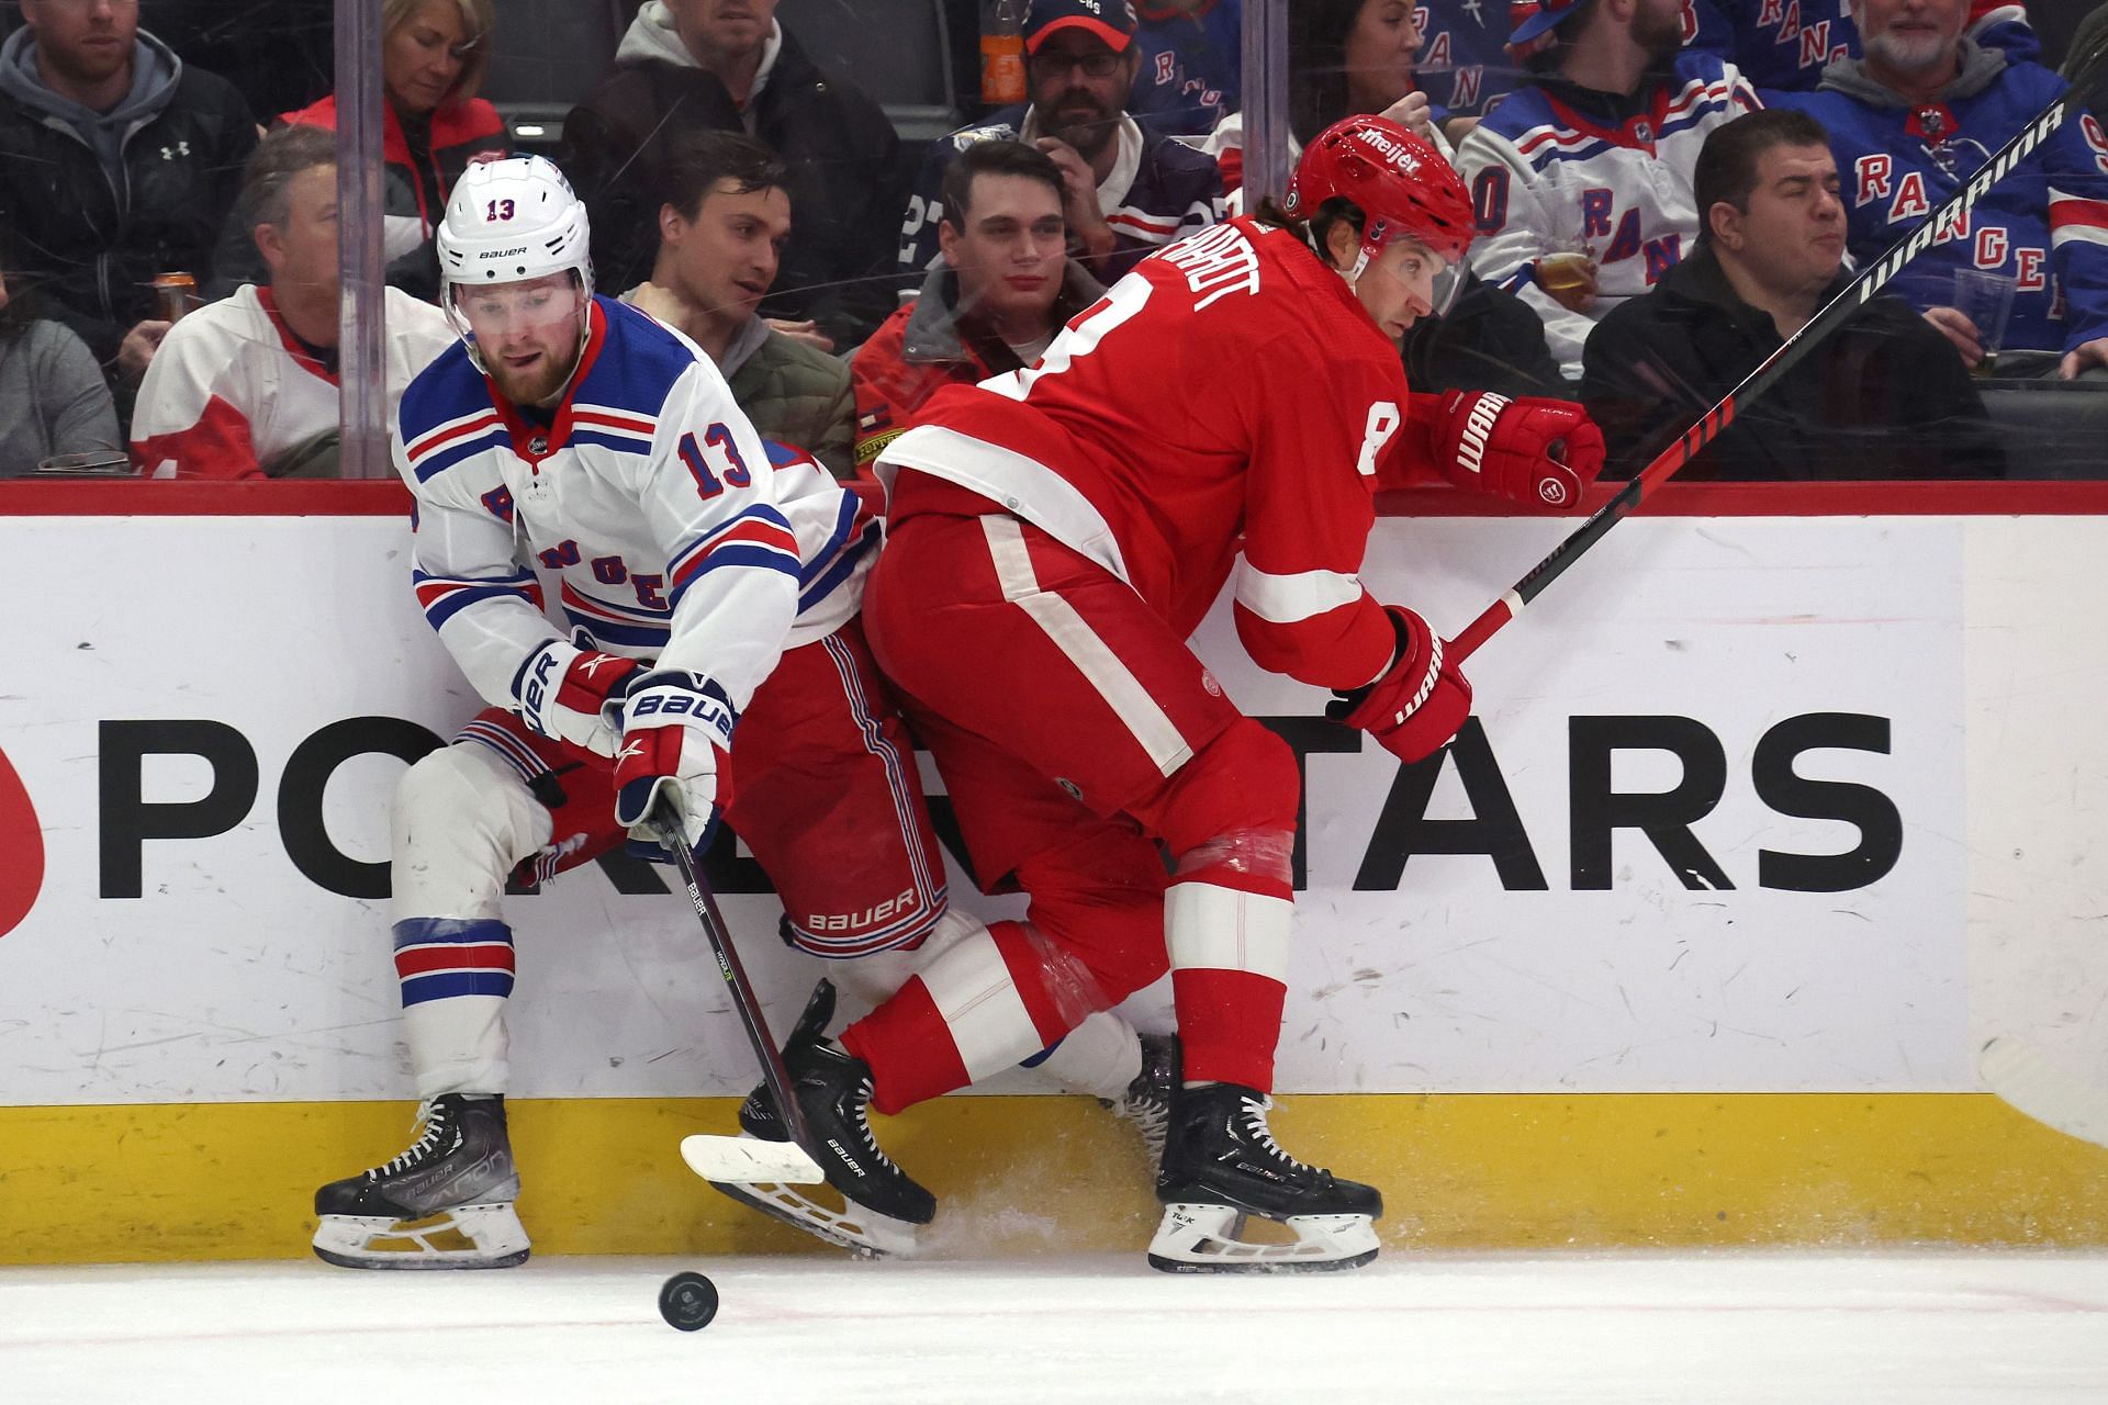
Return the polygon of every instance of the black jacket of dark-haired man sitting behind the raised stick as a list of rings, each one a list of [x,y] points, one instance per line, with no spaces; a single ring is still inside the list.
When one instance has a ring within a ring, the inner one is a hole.
[[[1823,293],[1836,297],[1849,278]],[[1583,350],[1581,400],[1629,478],[1783,337],[1726,280],[1712,246],[1613,308]],[[1901,432],[1899,432],[1901,430]],[[2005,457],[1954,348],[1895,297],[1861,305],[1758,400],[1684,478],[1996,478]]]

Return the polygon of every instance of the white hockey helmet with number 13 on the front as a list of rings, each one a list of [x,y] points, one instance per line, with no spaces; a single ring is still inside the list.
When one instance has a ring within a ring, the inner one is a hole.
[[[468,335],[453,305],[455,289],[523,282],[575,272],[592,297],[586,202],[544,156],[487,160],[462,173],[438,221],[438,305]]]

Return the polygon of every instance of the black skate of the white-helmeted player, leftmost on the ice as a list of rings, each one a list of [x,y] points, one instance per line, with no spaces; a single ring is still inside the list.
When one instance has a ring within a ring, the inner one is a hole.
[[[316,1258],[341,1268],[523,1264],[506,1100],[441,1093],[419,1121],[407,1152],[314,1192]]]

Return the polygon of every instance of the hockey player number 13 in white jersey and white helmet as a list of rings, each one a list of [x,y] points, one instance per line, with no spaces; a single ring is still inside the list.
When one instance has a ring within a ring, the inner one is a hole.
[[[978,931],[946,912],[856,617],[877,522],[807,455],[772,453],[694,343],[592,295],[586,211],[550,162],[472,166],[436,242],[462,339],[403,394],[394,457],[417,600],[491,706],[396,792],[392,939],[422,1131],[316,1192],[314,1249],[352,1268],[527,1258],[504,1108],[510,876],[651,843],[666,805],[691,847],[729,817],[816,956],[871,971],[877,952]],[[535,565],[561,581],[569,640]],[[1134,1034],[1107,1032],[1098,1087],[1140,1070]],[[868,1144],[862,1106],[824,1133]]]

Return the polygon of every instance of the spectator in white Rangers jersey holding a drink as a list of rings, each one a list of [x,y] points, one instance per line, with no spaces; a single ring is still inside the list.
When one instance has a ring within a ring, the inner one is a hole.
[[[1530,82],[1457,147],[1480,238],[1471,270],[1545,322],[1568,377],[1596,320],[1697,238],[1705,133],[1758,107],[1733,65],[1682,48],[1680,0],[1535,0],[1514,44]]]

